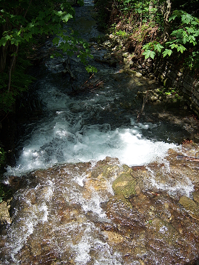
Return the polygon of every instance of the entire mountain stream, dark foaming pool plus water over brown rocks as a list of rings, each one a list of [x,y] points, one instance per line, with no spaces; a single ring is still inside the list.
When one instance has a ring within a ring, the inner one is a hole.
[[[84,7],[76,7],[73,22],[88,41],[100,34],[93,12],[92,1],[85,1]],[[46,42],[44,48],[49,45]],[[100,60],[108,51],[94,43],[91,52]],[[177,174],[167,160],[168,154],[174,155],[174,164],[179,163],[175,160],[175,153],[182,152],[179,141],[191,134],[186,118],[172,122],[169,114],[170,120],[159,119],[159,109],[148,104],[145,116],[136,122],[142,105],[137,92],[160,85],[121,74],[119,64],[109,67],[91,61],[98,71],[89,82],[100,80],[103,86],[73,95],[69,76],[61,73],[65,60],[46,58],[33,67],[42,115],[21,125],[16,166],[9,166],[5,174],[5,182],[16,193],[12,223],[2,229],[0,264],[196,260],[197,223],[188,223],[187,212],[174,202],[183,196],[192,199],[194,179]],[[78,89],[90,75],[76,57],[70,58],[70,69],[76,77],[73,87]],[[192,163],[191,174],[198,170],[197,162]],[[161,179],[157,172],[163,174]],[[197,210],[194,213],[191,218],[198,220]],[[173,221],[175,216],[178,222]],[[183,220],[192,234],[187,228],[180,230]]]

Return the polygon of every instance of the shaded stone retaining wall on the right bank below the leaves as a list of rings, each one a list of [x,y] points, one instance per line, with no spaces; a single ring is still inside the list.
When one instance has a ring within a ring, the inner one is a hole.
[[[165,87],[179,88],[190,108],[199,117],[199,81],[193,78],[190,71],[178,67],[171,59],[157,59],[154,73]]]

